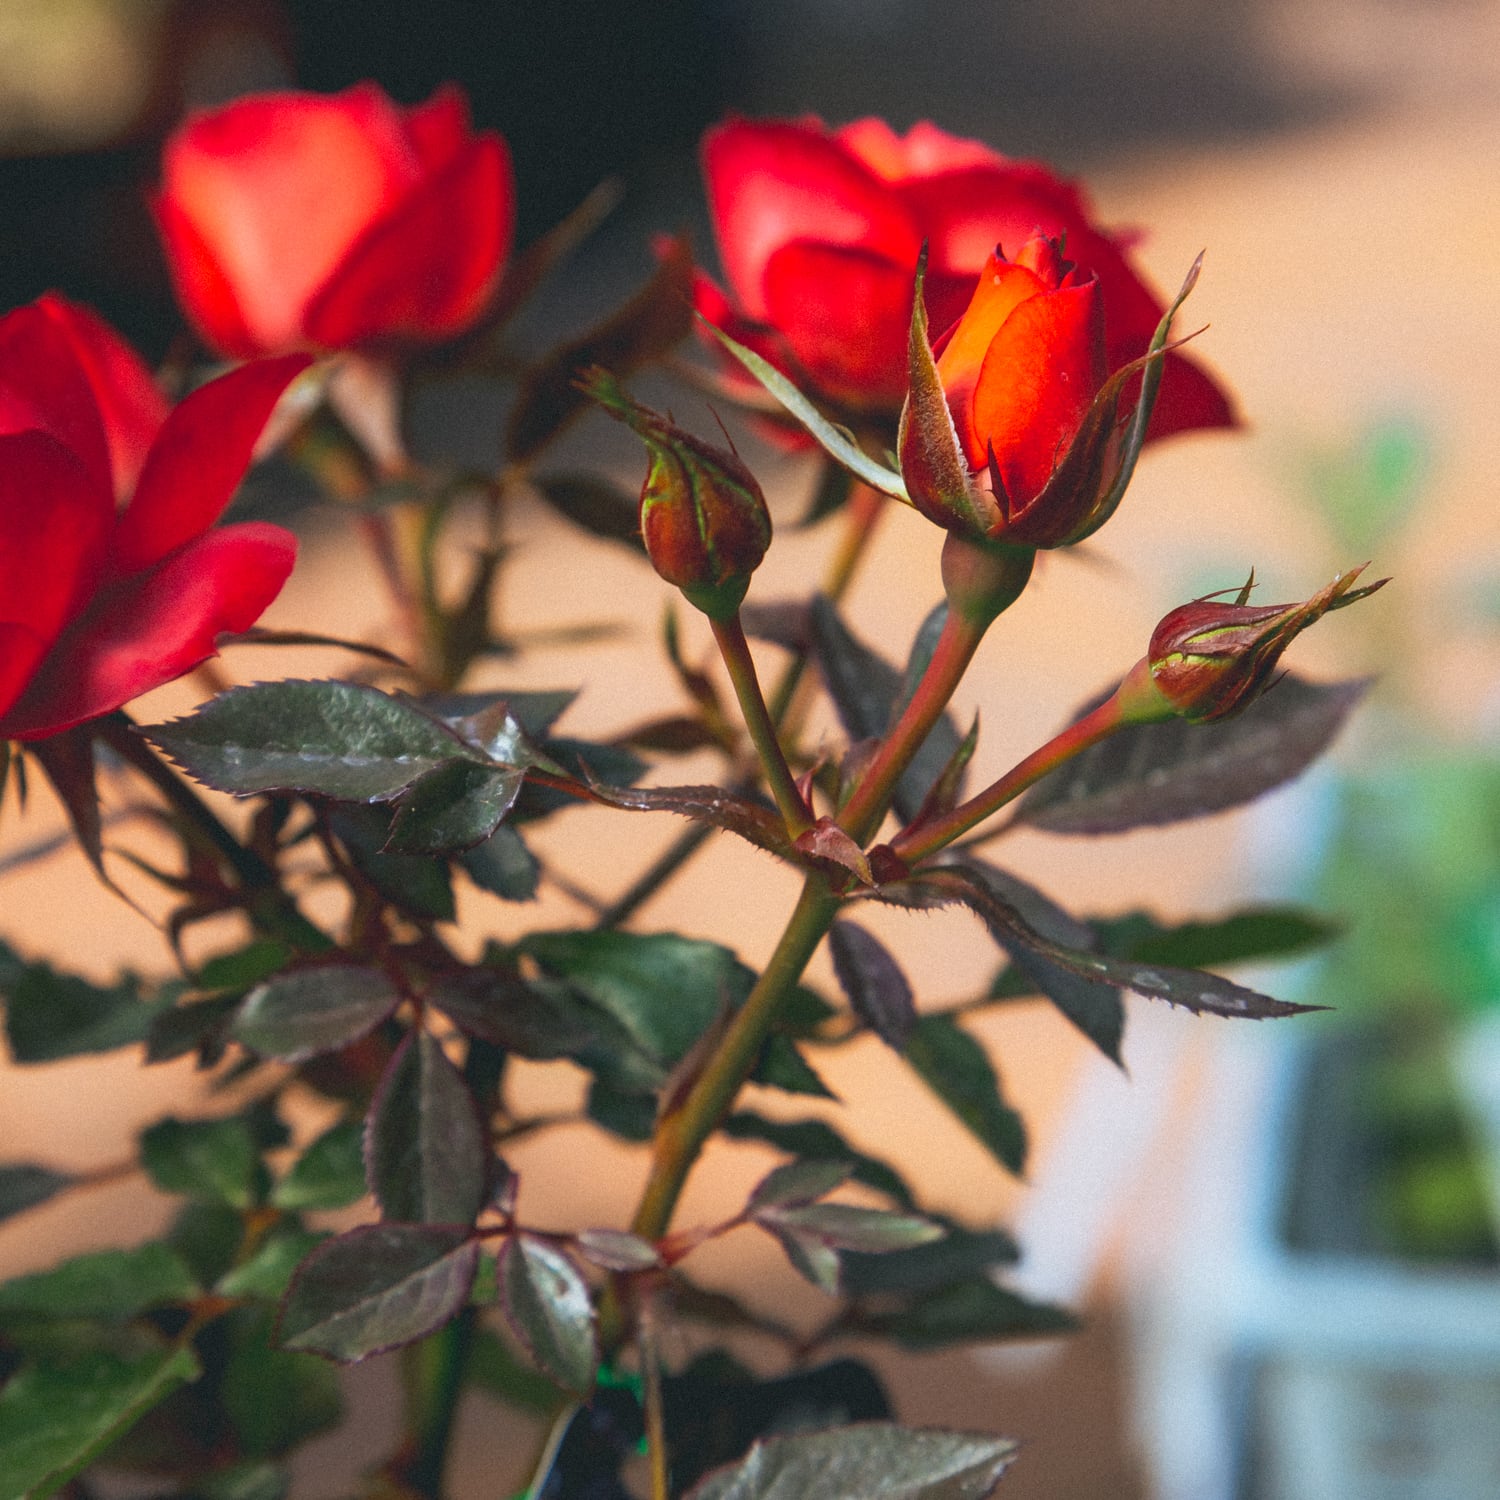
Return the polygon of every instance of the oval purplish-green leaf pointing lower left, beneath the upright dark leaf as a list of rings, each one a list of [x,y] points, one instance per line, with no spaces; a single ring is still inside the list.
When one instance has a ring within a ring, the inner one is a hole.
[[[368,1224],[320,1245],[282,1304],[285,1348],[346,1364],[410,1344],[468,1302],[478,1245],[468,1230]]]

